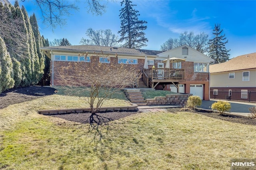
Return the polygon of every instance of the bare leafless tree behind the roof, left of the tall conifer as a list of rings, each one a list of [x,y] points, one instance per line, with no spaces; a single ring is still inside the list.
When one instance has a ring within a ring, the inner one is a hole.
[[[93,30],[89,28],[86,31],[86,36],[90,40],[82,38],[80,44],[82,45],[99,45],[99,46],[115,46],[117,45],[118,36],[112,33],[110,29],[107,30]]]

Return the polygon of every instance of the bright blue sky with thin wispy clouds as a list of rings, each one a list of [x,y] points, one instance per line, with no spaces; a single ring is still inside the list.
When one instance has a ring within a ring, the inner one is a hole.
[[[14,0],[10,0],[14,4]],[[21,2],[29,16],[36,14],[40,34],[52,41],[54,38],[67,38],[72,45],[80,45],[82,37],[88,28],[94,30],[110,29],[116,35],[120,30],[119,10],[122,8],[119,0],[102,1],[108,8],[102,16],[88,13],[86,1],[78,1],[80,11],[73,11],[67,16],[67,24],[54,29],[42,24],[38,7],[31,0]],[[75,1],[73,1],[75,2]],[[148,45],[143,49],[160,50],[169,38],[178,38],[184,31],[195,34],[206,32],[212,39],[214,24],[220,24],[228,39],[227,49],[231,49],[230,58],[238,55],[256,52],[256,0],[132,0],[135,10],[139,11],[139,20],[145,20],[148,28],[144,31]],[[118,35],[119,36],[119,35]]]

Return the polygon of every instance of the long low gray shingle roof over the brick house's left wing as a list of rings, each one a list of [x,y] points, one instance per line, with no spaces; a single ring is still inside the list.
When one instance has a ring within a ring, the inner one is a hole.
[[[70,45],[70,46],[58,46],[58,47],[41,47],[42,50],[54,50],[54,51],[73,51],[73,52],[96,52],[103,51],[104,53],[126,53],[133,55],[156,55],[162,51],[146,50],[146,49],[133,49],[133,48],[122,48],[122,47],[106,47],[97,45]]]

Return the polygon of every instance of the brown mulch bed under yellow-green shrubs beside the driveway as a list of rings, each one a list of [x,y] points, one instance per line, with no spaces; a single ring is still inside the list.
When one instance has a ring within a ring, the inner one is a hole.
[[[172,113],[176,113],[178,111],[181,111],[180,108],[171,108],[171,109],[167,109],[167,111],[170,111]],[[201,110],[201,109],[195,109],[195,110],[186,110],[186,112],[190,112],[190,113],[197,113],[197,114],[201,114],[204,116],[208,116],[208,117],[212,117],[214,119],[220,119],[223,121],[229,121],[229,122],[233,122],[233,123],[241,123],[244,125],[254,125],[256,126],[256,119],[250,119],[248,117],[245,116],[239,116],[239,115],[232,115],[232,114],[222,114],[220,115],[220,113],[216,113],[213,111],[205,111],[205,110]]]

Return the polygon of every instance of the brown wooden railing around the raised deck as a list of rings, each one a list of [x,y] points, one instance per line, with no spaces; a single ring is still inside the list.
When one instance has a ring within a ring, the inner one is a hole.
[[[144,73],[150,79],[184,79],[185,69],[150,68]]]

